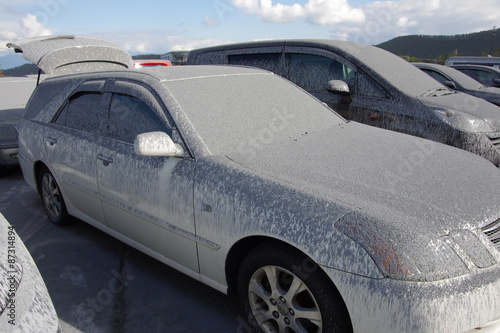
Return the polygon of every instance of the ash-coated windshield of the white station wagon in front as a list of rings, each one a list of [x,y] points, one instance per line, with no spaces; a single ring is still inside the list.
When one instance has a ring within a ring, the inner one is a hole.
[[[240,151],[343,124],[314,97],[269,73],[165,82],[212,154]],[[190,93],[186,93],[186,92]]]

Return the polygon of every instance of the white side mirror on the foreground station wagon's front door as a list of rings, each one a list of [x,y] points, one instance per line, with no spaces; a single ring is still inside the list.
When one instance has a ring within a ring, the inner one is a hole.
[[[139,156],[183,156],[182,147],[164,132],[142,133],[135,137],[134,150]]]

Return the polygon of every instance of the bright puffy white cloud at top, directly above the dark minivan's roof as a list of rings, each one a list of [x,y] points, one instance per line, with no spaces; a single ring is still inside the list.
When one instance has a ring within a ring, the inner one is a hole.
[[[364,21],[364,14],[353,8],[347,0],[308,0],[304,5],[284,5],[272,0],[232,0],[235,7],[248,15],[255,15],[269,22],[293,22],[305,19],[317,25],[334,25]]]

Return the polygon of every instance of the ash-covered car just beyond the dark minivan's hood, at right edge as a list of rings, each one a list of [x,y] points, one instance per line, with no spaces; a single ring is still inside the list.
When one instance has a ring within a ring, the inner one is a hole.
[[[485,99],[500,106],[499,88],[487,87],[470,76],[448,66],[428,63],[413,63],[413,65],[453,90]]]

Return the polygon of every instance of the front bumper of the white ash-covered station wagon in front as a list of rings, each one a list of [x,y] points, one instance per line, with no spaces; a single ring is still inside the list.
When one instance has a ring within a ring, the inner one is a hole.
[[[370,279],[324,268],[354,332],[500,332],[500,265],[437,282]],[[488,330],[487,330],[488,329]]]

